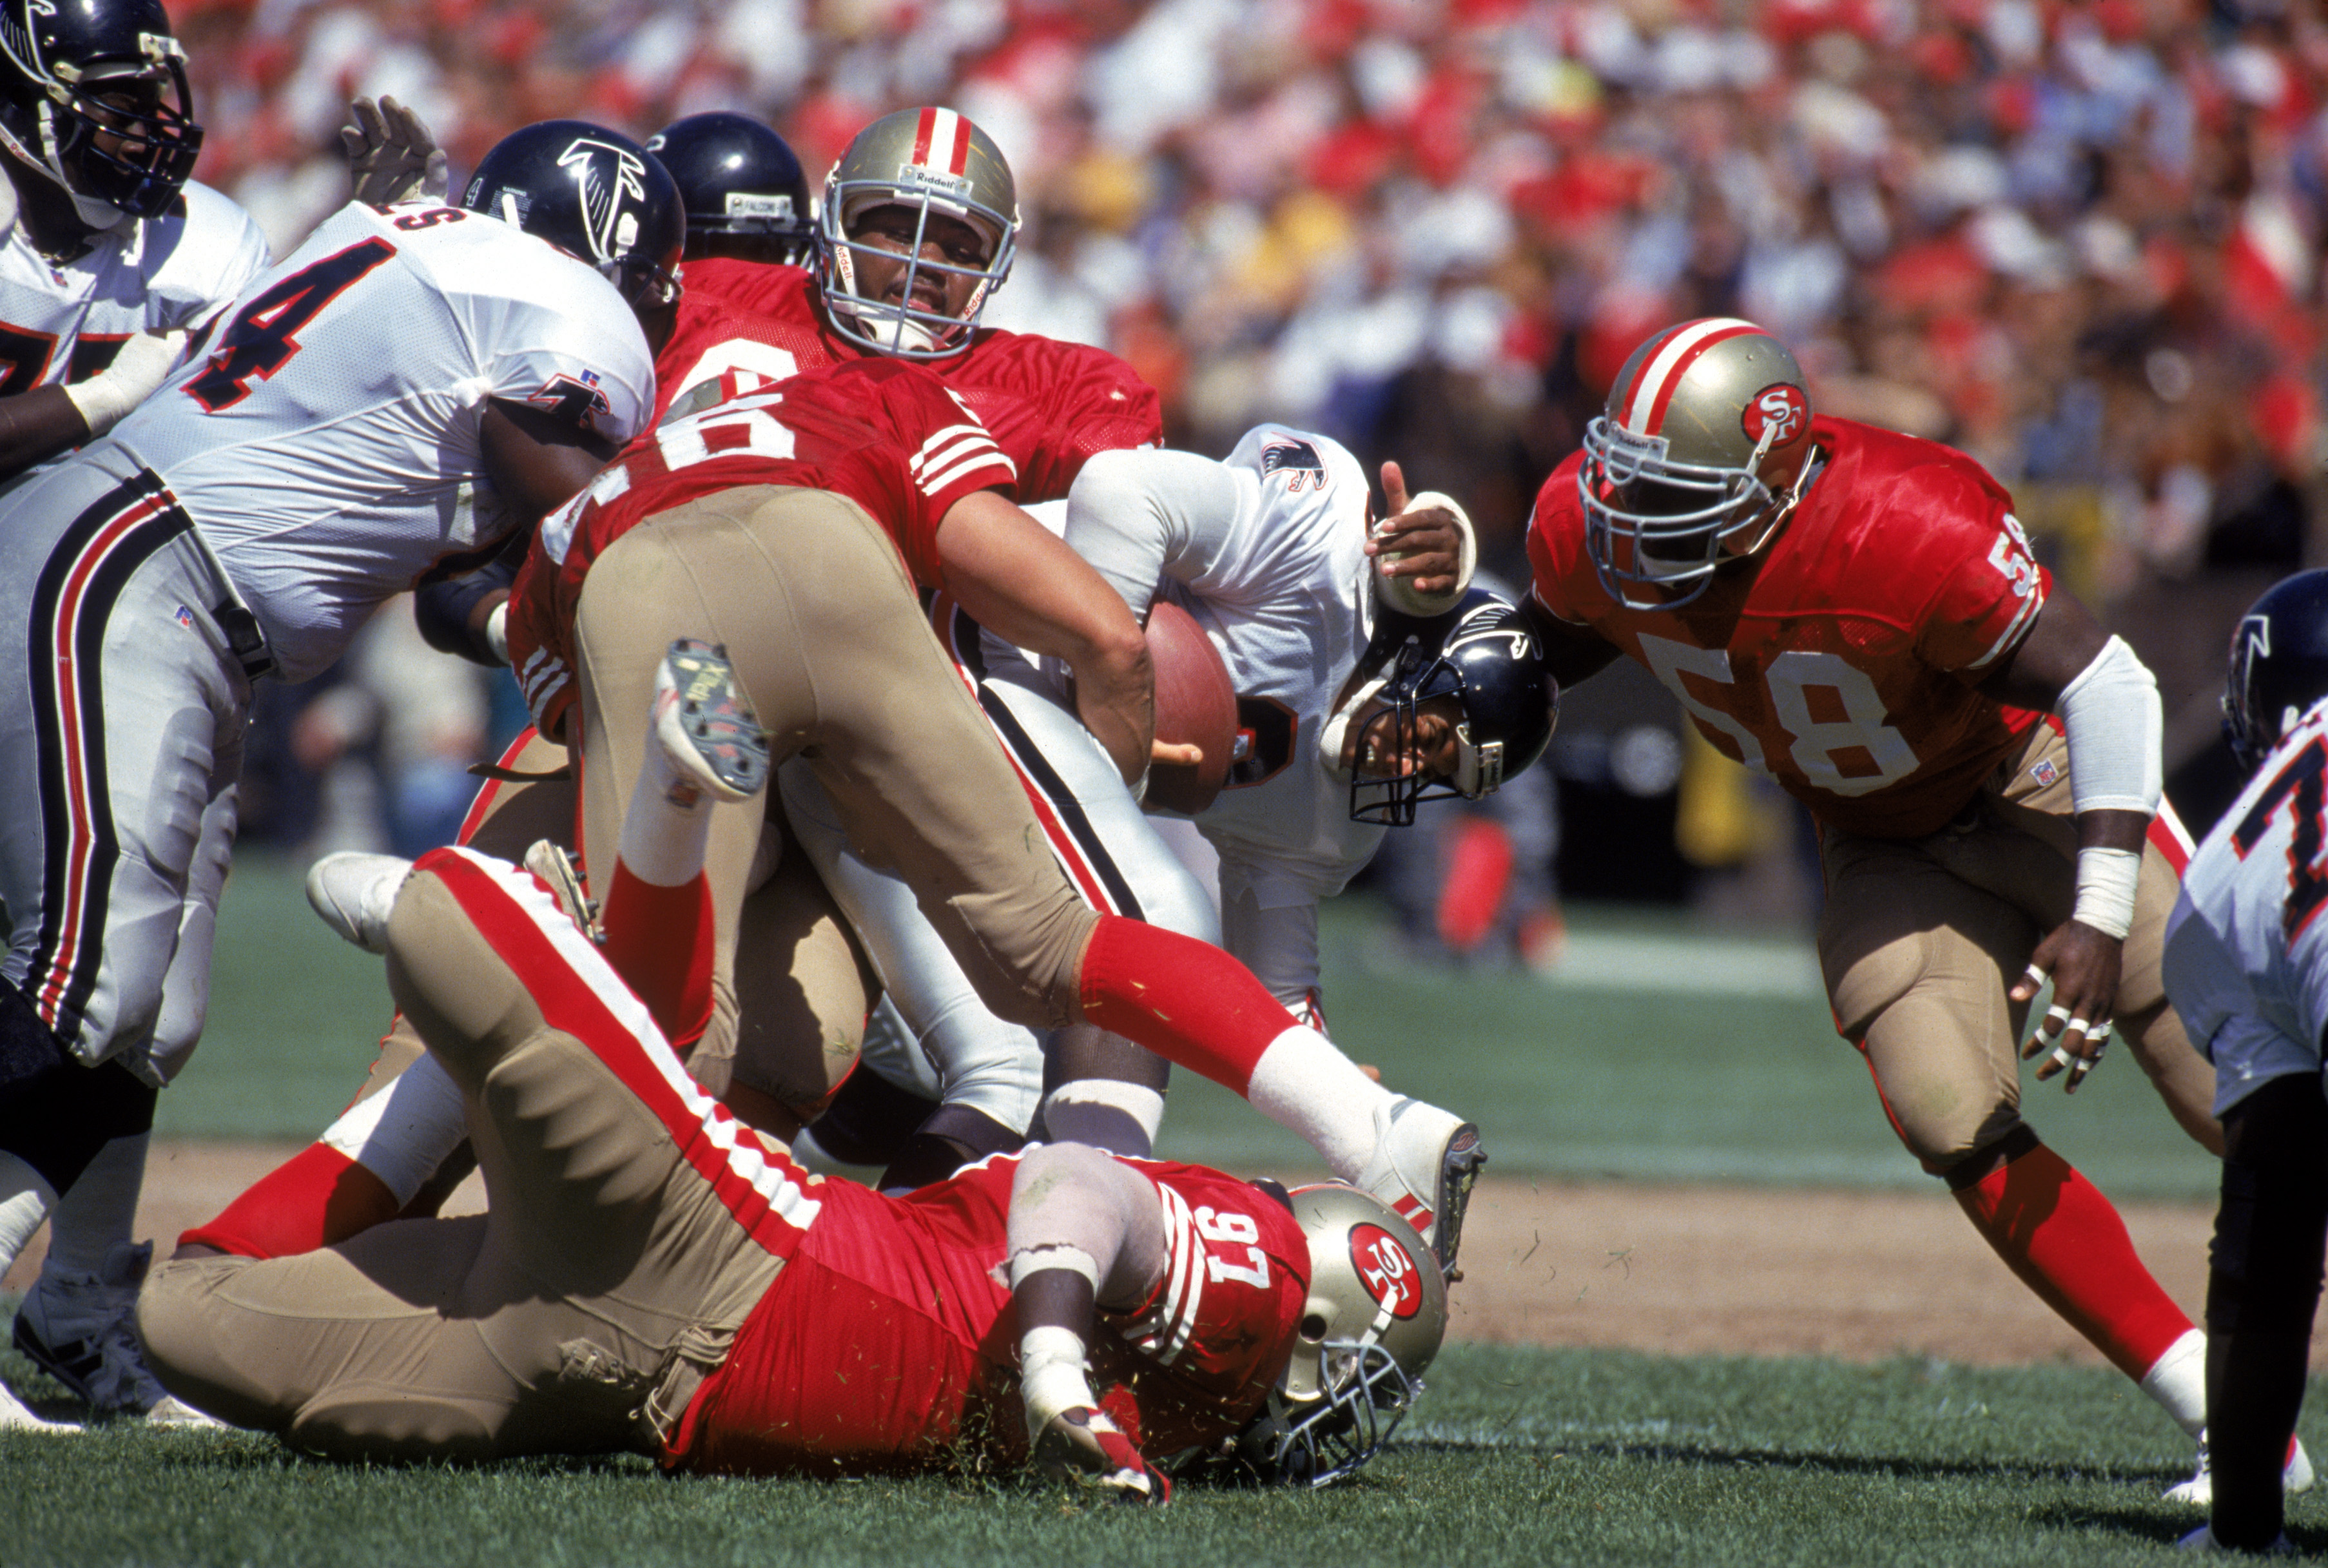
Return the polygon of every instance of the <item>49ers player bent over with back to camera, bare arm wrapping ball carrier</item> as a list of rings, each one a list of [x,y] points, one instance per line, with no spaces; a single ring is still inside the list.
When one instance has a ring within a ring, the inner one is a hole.
[[[943,461],[924,461],[934,449]],[[612,861],[638,770],[636,737],[615,735],[603,714],[647,700],[661,658],[647,637],[712,626],[775,726],[778,756],[810,758],[850,835],[906,872],[989,1010],[1036,1028],[1092,1021],[1248,1093],[1329,1170],[1429,1219],[1453,1252],[1478,1168],[1469,1124],[1390,1096],[1234,958],[1092,910],[1062,870],[987,719],[931,642],[913,577],[966,603],[982,593],[987,621],[1027,644],[1062,626],[1138,658],[1145,642],[1092,568],[989,489],[1008,475],[927,370],[859,361],[670,421],[596,479],[545,528],[510,621],[519,668],[542,675],[545,728],[580,726],[584,782],[608,782],[584,791],[594,863]],[[1052,607],[1048,619],[1027,614],[1027,596]],[[1048,651],[1076,658],[1071,642]],[[1120,693],[1113,728],[1145,756],[1145,686],[1101,675],[1078,679],[1083,712]],[[722,931],[768,831],[759,807],[712,817]],[[333,882],[342,868],[347,886],[326,900],[382,896],[361,861],[326,861],[317,875]],[[754,956],[778,977],[787,963],[799,975],[799,949]],[[393,1217],[459,1138],[442,1075],[407,1072],[328,1133],[326,1149],[214,1224],[251,1254],[338,1240]],[[352,1189],[370,1196],[335,1212]]]

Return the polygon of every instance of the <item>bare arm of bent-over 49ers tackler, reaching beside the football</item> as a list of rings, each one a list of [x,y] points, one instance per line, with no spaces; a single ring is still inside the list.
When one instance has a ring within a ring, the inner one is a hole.
[[[1155,749],[1155,665],[1131,610],[1083,556],[994,491],[938,523],[945,589],[994,635],[1076,672],[1076,714],[1124,784]]]

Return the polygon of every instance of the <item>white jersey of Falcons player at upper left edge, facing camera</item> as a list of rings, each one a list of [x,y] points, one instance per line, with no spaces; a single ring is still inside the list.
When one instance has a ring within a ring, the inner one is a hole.
[[[200,184],[91,240],[72,261],[33,249],[21,221],[0,240],[0,398],[86,382],[128,337],[200,326],[268,268],[251,216]]]

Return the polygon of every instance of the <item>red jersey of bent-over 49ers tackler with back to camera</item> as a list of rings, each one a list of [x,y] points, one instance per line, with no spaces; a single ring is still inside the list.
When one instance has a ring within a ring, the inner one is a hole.
[[[796,484],[847,496],[896,542],[906,570],[943,586],[938,523],[964,496],[1015,475],[938,377],[906,361],[850,361],[654,426],[542,519],[510,586],[510,665],[542,735],[573,705],[573,616],[608,544],[647,516],[736,489]]]

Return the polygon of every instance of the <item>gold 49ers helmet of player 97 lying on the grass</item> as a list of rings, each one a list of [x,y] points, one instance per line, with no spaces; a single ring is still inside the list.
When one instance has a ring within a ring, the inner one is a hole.
[[[1269,1480],[1325,1487],[1390,1440],[1422,1391],[1448,1331],[1448,1287],[1432,1249],[1355,1186],[1297,1186],[1311,1245],[1311,1291],[1294,1356],[1236,1459]]]

